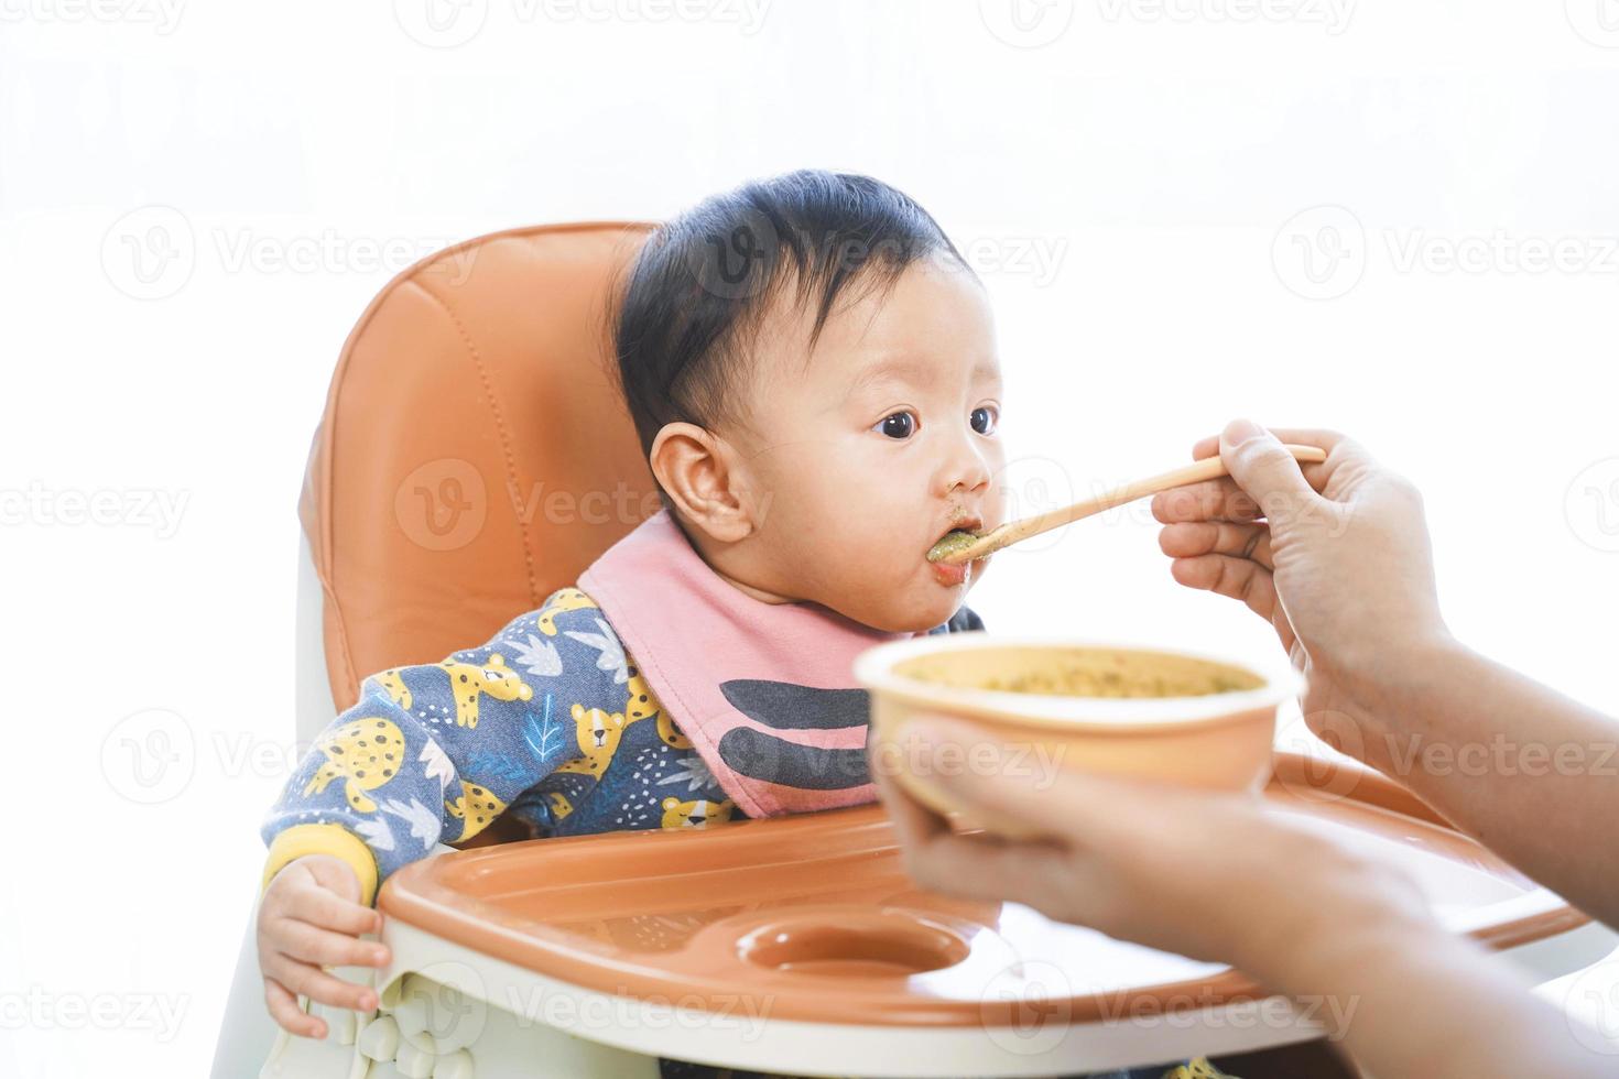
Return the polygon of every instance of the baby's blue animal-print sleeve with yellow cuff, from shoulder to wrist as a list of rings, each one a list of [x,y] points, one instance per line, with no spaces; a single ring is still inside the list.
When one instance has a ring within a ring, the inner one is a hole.
[[[374,874],[356,872],[380,885],[436,843],[478,835],[541,780],[563,799],[552,804],[572,809],[601,778],[638,697],[646,707],[617,634],[578,589],[554,592],[478,649],[372,675],[266,817],[266,880],[298,854],[346,849],[346,861],[363,861],[342,835],[338,849],[311,848],[330,825],[369,849]],[[531,806],[525,819],[544,822],[547,809]]]

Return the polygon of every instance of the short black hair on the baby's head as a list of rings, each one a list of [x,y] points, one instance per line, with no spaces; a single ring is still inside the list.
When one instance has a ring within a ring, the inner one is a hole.
[[[892,288],[926,257],[967,267],[910,196],[871,176],[810,168],[712,196],[656,228],[630,267],[614,327],[643,453],[664,424],[712,427],[733,416],[745,353],[784,288],[797,291],[800,311],[814,304],[813,349],[848,288]]]

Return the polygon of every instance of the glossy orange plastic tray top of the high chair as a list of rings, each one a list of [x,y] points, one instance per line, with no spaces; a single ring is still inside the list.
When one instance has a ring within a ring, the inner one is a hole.
[[[1588,920],[1381,775],[1277,754],[1264,796],[1415,870],[1436,911],[1489,946]],[[750,995],[816,1022],[1020,1024],[1033,1005],[1072,1024],[1264,995],[1221,964],[920,890],[879,806],[444,854],[395,874],[379,908],[581,988],[716,1009]]]

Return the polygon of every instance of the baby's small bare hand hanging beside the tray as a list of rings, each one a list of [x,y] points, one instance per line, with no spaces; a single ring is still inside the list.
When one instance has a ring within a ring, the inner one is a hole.
[[[288,862],[259,904],[259,972],[270,1018],[293,1034],[324,1039],[325,1022],[298,1006],[298,995],[337,1008],[371,1011],[377,995],[332,977],[324,966],[384,966],[389,950],[361,933],[382,916],[359,903],[359,878],[342,859],[306,854]]]

